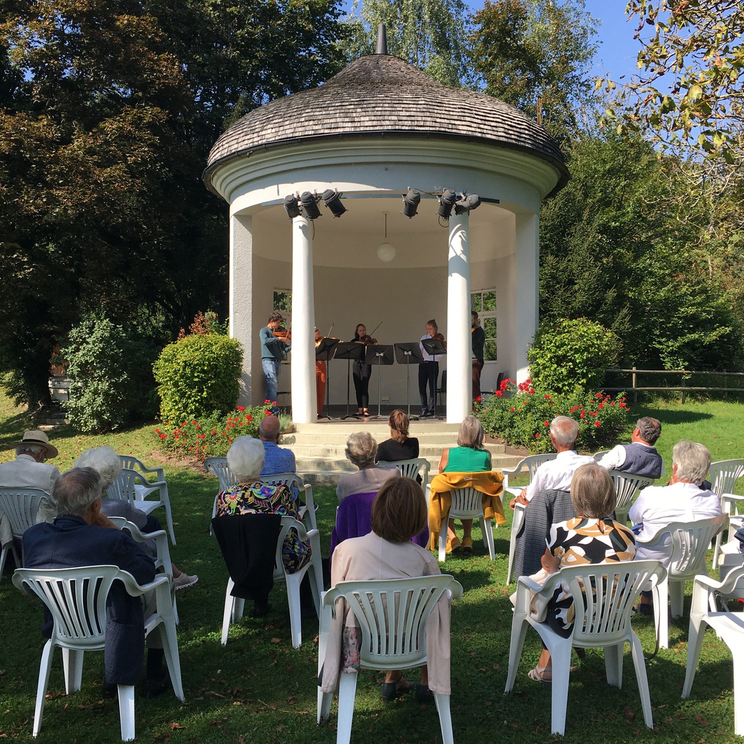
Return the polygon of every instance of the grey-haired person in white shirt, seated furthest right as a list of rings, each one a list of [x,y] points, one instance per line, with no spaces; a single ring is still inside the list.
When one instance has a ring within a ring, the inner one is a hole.
[[[719,516],[721,502],[713,491],[697,484],[705,481],[711,466],[711,453],[697,442],[683,439],[672,451],[672,477],[667,486],[649,486],[638,494],[630,507],[630,521],[638,535],[637,560],[656,559],[668,568],[672,557],[671,537],[661,545],[646,548],[641,543],[650,540],[671,522],[695,522]],[[641,594],[641,612],[651,615],[651,592]]]

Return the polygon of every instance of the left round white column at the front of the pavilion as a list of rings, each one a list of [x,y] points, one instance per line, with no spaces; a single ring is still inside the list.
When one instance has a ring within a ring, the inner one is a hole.
[[[315,294],[312,289],[312,225],[292,219],[292,420],[316,420]]]

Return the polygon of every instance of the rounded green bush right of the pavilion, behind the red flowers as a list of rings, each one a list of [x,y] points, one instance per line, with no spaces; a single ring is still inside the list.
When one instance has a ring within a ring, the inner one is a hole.
[[[571,393],[602,386],[605,370],[617,364],[620,339],[586,318],[540,324],[527,353],[537,390]]]

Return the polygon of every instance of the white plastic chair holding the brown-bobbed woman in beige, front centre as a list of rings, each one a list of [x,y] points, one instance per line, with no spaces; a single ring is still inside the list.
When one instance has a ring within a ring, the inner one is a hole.
[[[384,581],[342,581],[325,592],[318,637],[318,674],[325,661],[328,635],[343,598],[354,613],[362,632],[359,665],[362,669],[411,669],[426,664],[426,621],[439,598],[449,591],[452,599],[463,588],[448,574]],[[336,744],[348,744],[354,715],[357,673],[339,673],[339,718]],[[330,714],[332,693],[318,688],[318,723]],[[449,695],[434,693],[443,744],[453,744]]]

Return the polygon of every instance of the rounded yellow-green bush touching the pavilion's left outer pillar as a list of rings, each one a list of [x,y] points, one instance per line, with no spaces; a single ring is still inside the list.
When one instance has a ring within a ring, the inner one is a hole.
[[[162,420],[190,421],[232,411],[242,365],[240,341],[217,333],[193,334],[168,344],[153,368]]]

